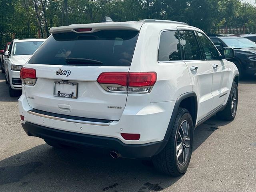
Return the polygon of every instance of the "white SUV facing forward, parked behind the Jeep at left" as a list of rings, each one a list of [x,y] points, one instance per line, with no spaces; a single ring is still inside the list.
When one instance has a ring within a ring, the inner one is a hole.
[[[31,55],[38,49],[45,39],[14,39],[6,56],[5,82],[9,85],[9,95],[16,96],[16,90],[21,90],[20,69],[28,61]]]

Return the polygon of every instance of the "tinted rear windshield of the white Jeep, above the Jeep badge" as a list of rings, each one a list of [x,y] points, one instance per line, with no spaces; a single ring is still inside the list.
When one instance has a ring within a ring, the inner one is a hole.
[[[138,31],[54,34],[30,58],[32,64],[130,66]]]

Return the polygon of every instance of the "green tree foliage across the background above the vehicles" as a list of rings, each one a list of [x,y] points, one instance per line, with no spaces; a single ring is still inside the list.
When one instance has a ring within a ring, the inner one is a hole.
[[[104,16],[176,20],[209,31],[255,25],[256,7],[241,0],[0,0],[0,33],[40,29],[48,34],[50,27],[101,22]]]

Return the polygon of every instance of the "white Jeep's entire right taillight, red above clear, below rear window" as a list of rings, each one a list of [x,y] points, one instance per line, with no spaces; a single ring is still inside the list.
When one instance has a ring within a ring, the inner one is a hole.
[[[148,93],[156,78],[156,72],[103,72],[97,82],[108,92]]]

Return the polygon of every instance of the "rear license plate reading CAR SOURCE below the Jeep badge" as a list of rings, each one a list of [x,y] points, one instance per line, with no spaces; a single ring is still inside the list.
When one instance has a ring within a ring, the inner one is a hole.
[[[77,88],[78,88],[78,83],[55,81],[53,95],[56,97],[76,99]]]

